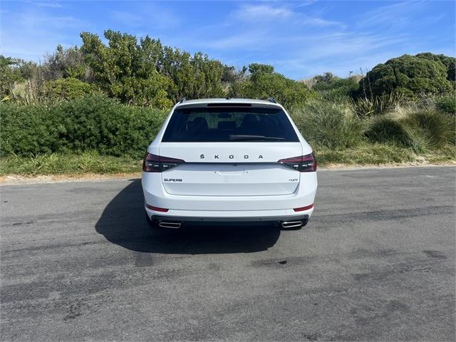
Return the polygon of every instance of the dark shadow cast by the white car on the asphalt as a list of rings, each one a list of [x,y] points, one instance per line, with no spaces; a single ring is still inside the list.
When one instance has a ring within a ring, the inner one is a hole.
[[[143,205],[141,181],[133,180],[105,207],[96,232],[132,251],[164,254],[260,252],[274,246],[281,232],[272,224],[152,229],[145,221]]]

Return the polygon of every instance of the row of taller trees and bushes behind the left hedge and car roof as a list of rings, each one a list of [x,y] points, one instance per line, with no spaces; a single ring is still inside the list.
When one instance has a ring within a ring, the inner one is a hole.
[[[103,93],[127,105],[169,109],[183,97],[274,96],[294,105],[312,93],[272,66],[252,63],[237,71],[201,52],[191,55],[149,36],[138,41],[108,30],[104,38],[108,44],[83,32],[81,47],[58,46],[41,65],[1,56],[1,99],[48,103]]]

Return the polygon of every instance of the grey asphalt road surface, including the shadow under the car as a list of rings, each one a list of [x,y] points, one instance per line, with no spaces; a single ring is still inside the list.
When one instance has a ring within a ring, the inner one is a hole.
[[[1,186],[1,341],[455,341],[455,176],[319,172],[299,231],[152,232],[139,180]]]

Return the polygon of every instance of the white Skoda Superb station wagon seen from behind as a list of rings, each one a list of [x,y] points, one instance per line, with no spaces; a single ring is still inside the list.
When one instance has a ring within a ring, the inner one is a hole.
[[[316,160],[286,110],[247,99],[175,105],[147,147],[142,187],[150,223],[279,222],[314,210]]]

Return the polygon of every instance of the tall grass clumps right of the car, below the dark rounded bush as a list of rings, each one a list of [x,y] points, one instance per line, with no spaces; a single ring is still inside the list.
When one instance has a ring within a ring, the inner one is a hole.
[[[439,100],[448,101],[405,103],[397,95],[358,103],[314,99],[295,108],[292,117],[304,138],[321,147],[341,150],[373,142],[425,152],[455,145],[456,116],[439,110]]]

